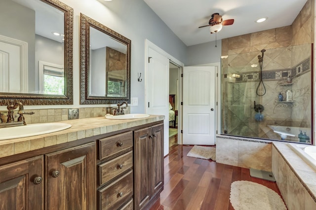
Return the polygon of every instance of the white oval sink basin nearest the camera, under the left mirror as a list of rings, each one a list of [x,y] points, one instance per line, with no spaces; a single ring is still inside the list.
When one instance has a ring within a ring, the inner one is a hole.
[[[0,128],[0,140],[32,137],[65,130],[70,127],[71,125],[67,123],[36,123],[24,126]]]

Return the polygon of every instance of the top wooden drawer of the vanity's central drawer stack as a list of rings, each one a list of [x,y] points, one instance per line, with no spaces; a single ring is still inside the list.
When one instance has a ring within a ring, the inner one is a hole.
[[[133,146],[133,132],[118,134],[112,137],[99,140],[100,154],[99,159],[105,159],[111,155],[117,154],[124,149]]]

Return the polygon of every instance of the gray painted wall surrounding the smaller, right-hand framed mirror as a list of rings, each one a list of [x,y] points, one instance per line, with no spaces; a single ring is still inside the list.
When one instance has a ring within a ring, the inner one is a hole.
[[[186,45],[162,22],[143,0],[61,0],[74,8],[74,106],[79,105],[79,16],[80,12],[131,39],[131,97],[138,106],[131,112],[145,112],[145,39],[185,63]],[[142,73],[142,82],[137,73]]]

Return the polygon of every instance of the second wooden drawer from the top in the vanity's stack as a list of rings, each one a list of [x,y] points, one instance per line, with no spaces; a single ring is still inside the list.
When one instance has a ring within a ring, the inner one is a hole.
[[[130,170],[133,167],[133,152],[126,154],[99,165],[99,185],[110,181],[115,176]]]

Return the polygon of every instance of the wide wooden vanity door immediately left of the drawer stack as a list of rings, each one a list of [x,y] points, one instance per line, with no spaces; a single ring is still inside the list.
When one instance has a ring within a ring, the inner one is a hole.
[[[95,142],[45,155],[46,210],[96,209]]]

